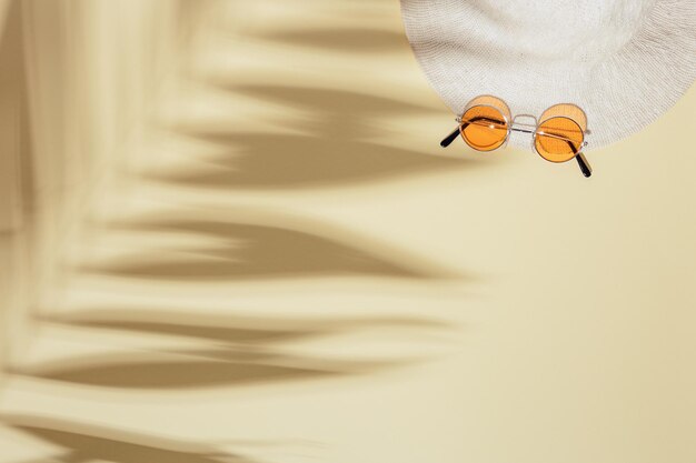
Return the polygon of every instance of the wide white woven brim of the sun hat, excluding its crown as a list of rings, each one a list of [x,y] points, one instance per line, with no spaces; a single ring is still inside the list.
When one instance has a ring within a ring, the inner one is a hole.
[[[696,79],[696,1],[646,0],[629,39],[597,57],[530,52],[528,43],[516,44],[509,24],[496,27],[497,7],[481,12],[481,3],[485,0],[401,0],[415,56],[455,113],[479,94],[503,98],[515,114],[538,115],[553,104],[570,102],[587,113],[590,148],[599,148],[655,121]],[[610,31],[612,24],[604,30]],[[565,36],[546,40],[563,41]]]

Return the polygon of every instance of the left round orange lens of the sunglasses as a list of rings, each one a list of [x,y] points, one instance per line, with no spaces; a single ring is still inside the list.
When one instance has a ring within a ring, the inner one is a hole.
[[[493,107],[469,108],[461,117],[460,132],[464,141],[475,150],[490,151],[505,143],[507,121]]]

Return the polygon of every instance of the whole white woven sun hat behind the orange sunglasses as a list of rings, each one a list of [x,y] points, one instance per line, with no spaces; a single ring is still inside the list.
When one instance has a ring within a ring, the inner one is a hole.
[[[696,79],[696,0],[401,0],[401,10],[453,112],[480,94],[537,117],[575,103],[590,149],[643,129]]]

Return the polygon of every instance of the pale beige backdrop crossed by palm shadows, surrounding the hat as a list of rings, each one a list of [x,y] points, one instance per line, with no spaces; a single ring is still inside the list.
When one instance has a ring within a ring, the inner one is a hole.
[[[23,6],[21,62],[91,92],[59,105],[27,64],[33,175],[58,175],[43,137],[74,138],[46,202],[72,227],[3,248],[28,328],[0,461],[696,460],[694,90],[586,180],[443,152],[397,1],[145,3],[60,10],[81,73]]]

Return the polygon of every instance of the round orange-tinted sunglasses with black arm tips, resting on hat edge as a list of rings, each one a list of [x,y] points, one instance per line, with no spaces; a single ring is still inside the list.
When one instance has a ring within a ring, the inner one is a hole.
[[[534,123],[518,122],[527,118]],[[497,97],[480,95],[469,101],[464,113],[457,118],[459,127],[441,142],[449,147],[457,135],[477,151],[493,151],[507,144],[511,132],[531,133],[533,149],[550,162],[567,162],[575,158],[585,177],[593,171],[583,154],[587,147],[585,135],[587,115],[579,107],[570,103],[555,104],[537,119],[534,115],[511,117],[509,107]]]

